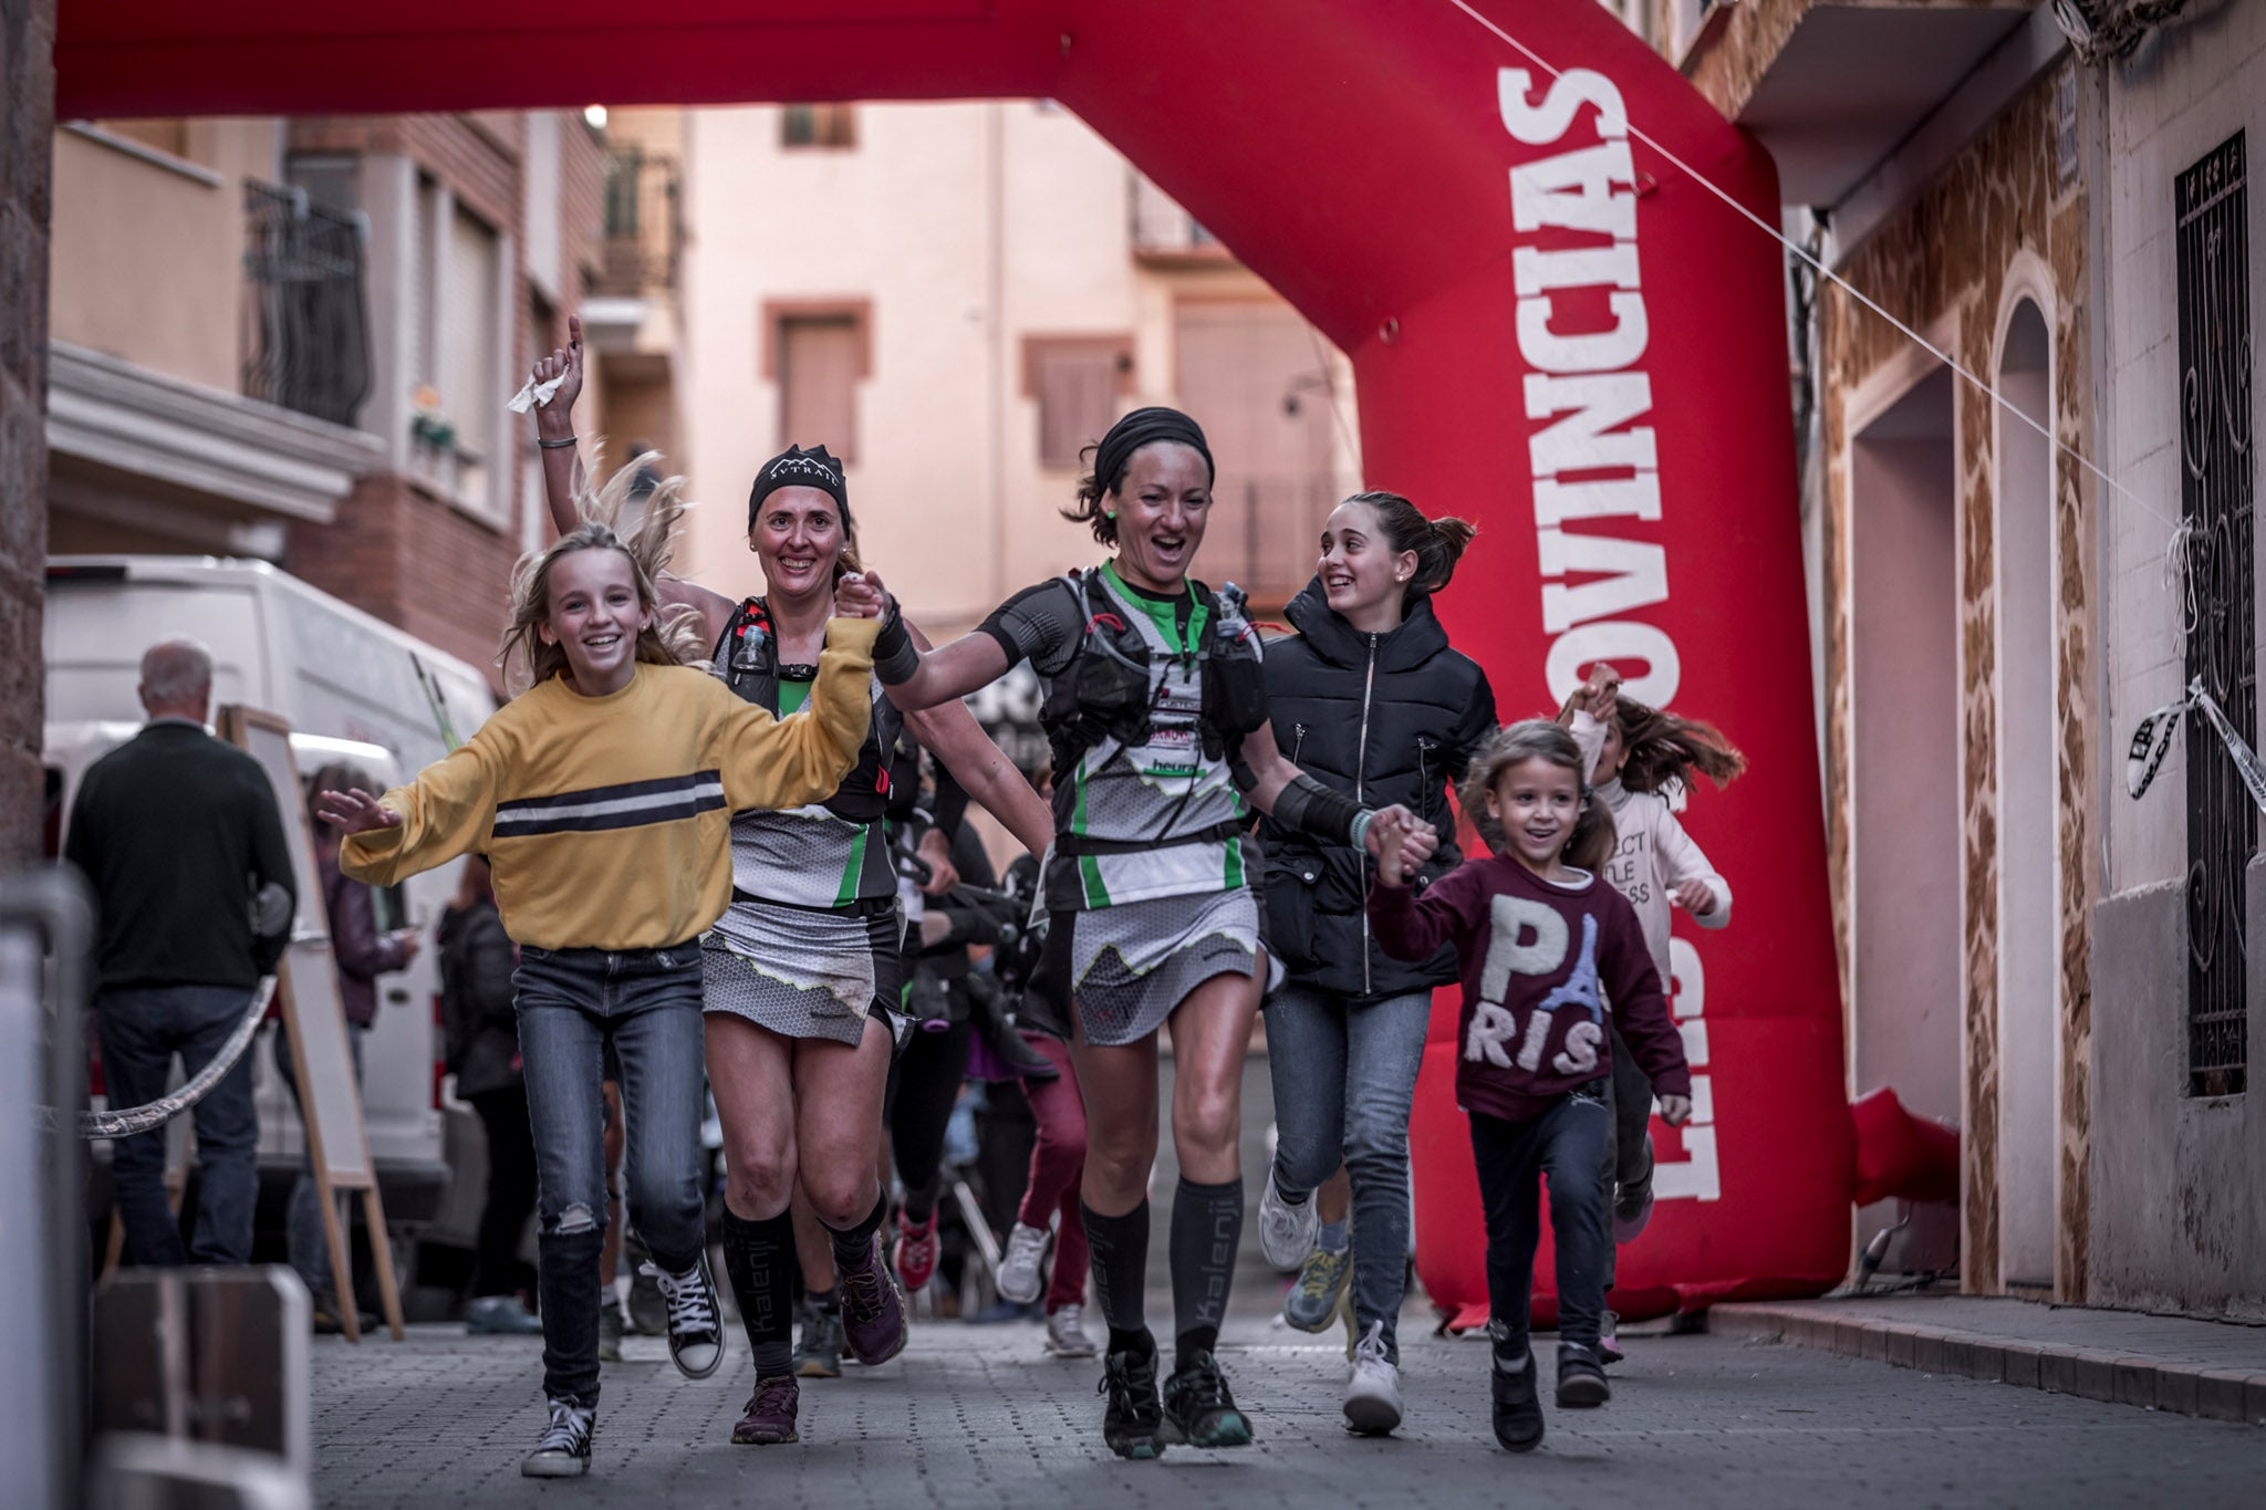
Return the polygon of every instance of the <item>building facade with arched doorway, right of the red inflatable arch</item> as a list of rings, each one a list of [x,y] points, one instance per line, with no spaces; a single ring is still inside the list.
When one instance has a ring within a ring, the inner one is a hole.
[[[1643,23],[1772,147],[1788,238],[1840,278],[1790,258],[1849,1080],[1958,1123],[1965,1159],[1958,1211],[1892,1256],[2257,1315],[2259,813],[2200,711],[2141,801],[2119,756],[2198,672],[2257,740],[2241,143],[2266,7],[2060,11]]]

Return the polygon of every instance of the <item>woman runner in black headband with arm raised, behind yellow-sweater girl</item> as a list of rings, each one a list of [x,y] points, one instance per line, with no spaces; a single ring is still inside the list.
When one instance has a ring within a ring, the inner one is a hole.
[[[573,509],[580,319],[569,321],[569,337],[566,351],[535,367],[537,380],[564,378],[537,410],[539,432],[560,441],[544,448],[544,484],[562,530]],[[664,580],[662,602],[691,604],[716,675],[786,715],[809,693],[836,591],[859,570],[847,482],[825,446],[789,446],[761,466],[748,494],[748,550],[764,566],[761,598],[734,602]],[[915,638],[897,618],[877,645],[902,659],[918,654]],[[886,1193],[875,1175],[904,935],[881,833],[900,715],[879,684],[872,711],[863,758],[829,801],[732,817],[732,906],[702,940],[707,1071],[727,1168],[723,1247],[757,1372],[734,1442],[795,1440],[789,1204],[798,1184],[832,1236],[850,1352],[881,1363],[904,1347],[904,1295],[881,1256]],[[959,700],[906,713],[902,724],[1033,853],[1047,847],[1045,804]]]

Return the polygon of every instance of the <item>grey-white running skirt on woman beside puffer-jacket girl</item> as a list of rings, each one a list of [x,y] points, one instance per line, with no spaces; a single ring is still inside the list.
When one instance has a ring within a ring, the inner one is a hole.
[[[1156,1032],[1212,976],[1251,976],[1260,910],[1251,887],[1056,912],[1033,989],[1076,1003],[1088,1044]]]

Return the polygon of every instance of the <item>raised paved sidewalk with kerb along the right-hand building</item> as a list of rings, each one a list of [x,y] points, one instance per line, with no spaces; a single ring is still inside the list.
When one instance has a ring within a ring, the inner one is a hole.
[[[2266,1426],[2266,1327],[1985,1295],[1729,1304],[1709,1331]]]

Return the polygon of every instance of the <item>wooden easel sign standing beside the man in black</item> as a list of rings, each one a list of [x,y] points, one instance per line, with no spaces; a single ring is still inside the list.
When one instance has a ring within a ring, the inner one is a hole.
[[[299,763],[290,752],[290,724],[274,713],[236,704],[220,709],[215,722],[220,738],[245,749],[267,772],[276,808],[283,813],[283,842],[290,847],[292,878],[299,887],[290,949],[276,964],[276,998],[283,1003],[283,1028],[290,1035],[292,1075],[299,1080],[308,1161],[315,1166],[315,1191],[322,1195],[322,1236],[331,1247],[338,1324],[349,1342],[363,1340],[349,1227],[340,1207],[340,1195],[360,1191],[369,1256],[378,1268],[378,1299],[385,1306],[385,1324],[399,1342],[401,1288],[394,1284],[394,1254],[385,1241],[385,1204],[378,1200],[369,1134],[363,1130],[363,1093],[353,1080],[347,1012],[338,1003],[331,919],[322,906],[322,869],[315,865],[315,833],[308,829]]]

